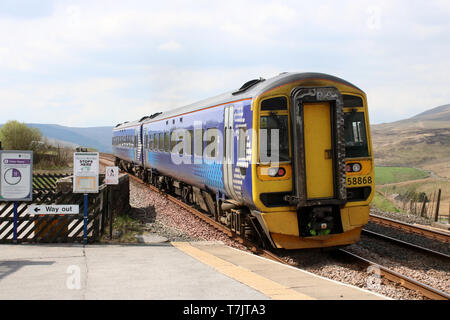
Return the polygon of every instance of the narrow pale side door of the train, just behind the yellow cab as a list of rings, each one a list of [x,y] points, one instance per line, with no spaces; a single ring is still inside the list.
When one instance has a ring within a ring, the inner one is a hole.
[[[230,105],[224,108],[223,182],[227,195],[236,200],[238,196],[233,185],[233,170],[236,163],[234,130],[234,106]]]

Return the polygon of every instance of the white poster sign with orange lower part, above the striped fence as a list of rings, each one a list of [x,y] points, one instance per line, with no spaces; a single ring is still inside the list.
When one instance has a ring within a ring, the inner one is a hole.
[[[98,193],[98,152],[75,152],[73,155],[73,192]]]

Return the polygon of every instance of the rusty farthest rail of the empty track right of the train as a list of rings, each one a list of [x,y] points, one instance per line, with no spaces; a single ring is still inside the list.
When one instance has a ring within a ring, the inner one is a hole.
[[[384,225],[390,228],[395,228],[398,230],[406,231],[409,233],[415,233],[420,234],[422,236],[425,236],[427,238],[431,238],[434,240],[439,240],[445,243],[450,242],[450,233],[445,231],[439,231],[434,229],[428,229],[426,227],[421,227],[413,224],[409,224],[406,222],[401,222],[398,220],[393,220],[381,216],[377,216],[374,214],[371,214],[369,217],[370,222],[374,222],[380,225]]]

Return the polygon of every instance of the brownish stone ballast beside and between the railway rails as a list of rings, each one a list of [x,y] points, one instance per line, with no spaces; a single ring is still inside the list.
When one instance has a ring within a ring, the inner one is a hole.
[[[189,211],[172,203],[163,195],[152,191],[145,184],[130,179],[130,205],[135,208],[135,218],[145,223],[148,232],[158,234],[168,238],[169,241],[221,241],[225,245],[247,250],[243,245],[231,240],[220,231],[192,215]],[[387,216],[393,219],[400,219],[398,214],[383,213],[378,210],[372,210],[374,214]],[[418,221],[423,219],[411,215],[400,215],[405,222],[408,223],[424,223]],[[426,220],[426,219],[424,219]],[[381,227],[375,224],[369,224],[368,229],[375,232],[381,232]],[[390,230],[390,236],[397,236],[405,241],[410,241],[408,237],[413,235],[399,235],[399,231]],[[417,238],[417,236],[415,237]],[[423,239],[423,238],[422,238]],[[428,241],[426,247],[441,251],[449,250],[448,247],[442,246],[442,243],[434,243],[435,241],[426,239],[417,243],[423,245]],[[367,257],[375,262],[384,264],[400,273],[406,273],[414,279],[437,287],[442,291],[449,292],[449,266],[443,265],[442,261],[432,261],[432,258],[423,258],[422,256],[413,256],[410,252],[405,252],[403,248],[394,248],[392,245],[387,246],[383,241],[375,241],[362,236],[361,242],[347,247],[358,255]],[[406,289],[397,283],[383,279],[379,286],[370,286],[374,276],[364,269],[361,269],[354,262],[343,261],[342,258],[336,257],[332,250],[308,249],[298,251],[281,251],[279,253],[284,260],[294,266],[309,271],[311,273],[336,280],[339,282],[354,285],[360,288],[373,291],[393,299],[406,300],[422,300],[427,299],[420,293]]]

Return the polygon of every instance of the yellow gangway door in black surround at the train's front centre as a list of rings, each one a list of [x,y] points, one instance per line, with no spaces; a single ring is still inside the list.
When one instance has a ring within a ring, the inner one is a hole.
[[[339,90],[294,89],[291,118],[294,202],[298,207],[345,202],[343,100]]]

